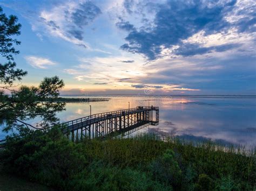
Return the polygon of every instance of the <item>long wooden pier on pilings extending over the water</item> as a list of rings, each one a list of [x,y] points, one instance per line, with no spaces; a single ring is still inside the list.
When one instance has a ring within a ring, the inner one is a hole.
[[[104,112],[60,124],[63,133],[72,141],[84,137],[105,137],[112,133],[123,133],[145,125],[158,125],[158,107],[137,107],[126,110]]]

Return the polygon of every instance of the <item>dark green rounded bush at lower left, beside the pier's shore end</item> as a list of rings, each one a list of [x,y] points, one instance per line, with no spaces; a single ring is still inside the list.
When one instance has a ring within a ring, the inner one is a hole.
[[[58,129],[9,139],[0,159],[4,171],[57,188],[65,188],[87,164],[82,145],[69,142]]]

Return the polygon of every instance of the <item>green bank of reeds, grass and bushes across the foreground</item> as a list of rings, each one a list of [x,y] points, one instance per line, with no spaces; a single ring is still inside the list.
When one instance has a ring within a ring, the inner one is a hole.
[[[9,140],[2,171],[66,190],[253,190],[255,152],[154,136],[71,143],[58,130]]]

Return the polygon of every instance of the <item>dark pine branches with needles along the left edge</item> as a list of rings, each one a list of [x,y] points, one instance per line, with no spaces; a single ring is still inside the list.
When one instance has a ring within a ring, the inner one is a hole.
[[[55,102],[59,90],[64,87],[58,76],[45,77],[38,87],[14,86],[27,74],[16,68],[14,55],[19,51],[14,46],[21,44],[14,38],[21,34],[21,24],[14,15],[7,17],[0,7],[0,55],[6,63],[0,63],[0,124],[5,131],[36,128],[25,121],[38,117],[37,128],[47,128],[58,123],[56,112],[64,110],[65,104]]]

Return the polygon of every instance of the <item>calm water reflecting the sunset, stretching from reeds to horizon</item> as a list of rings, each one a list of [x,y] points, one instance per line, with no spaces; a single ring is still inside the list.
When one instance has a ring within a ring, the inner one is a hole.
[[[108,102],[67,103],[60,121],[100,112],[135,108],[138,105],[159,106],[159,125],[137,131],[180,136],[186,139],[212,139],[223,143],[256,146],[256,96],[90,96],[111,98]],[[34,124],[38,119],[30,123]],[[0,133],[0,139],[4,138]]]

